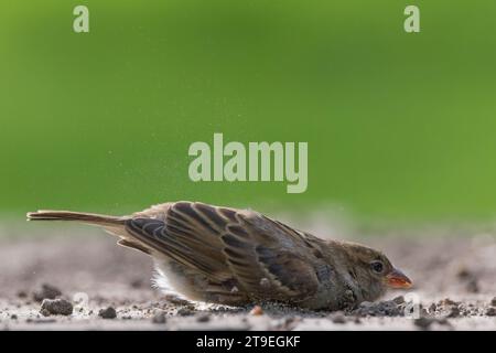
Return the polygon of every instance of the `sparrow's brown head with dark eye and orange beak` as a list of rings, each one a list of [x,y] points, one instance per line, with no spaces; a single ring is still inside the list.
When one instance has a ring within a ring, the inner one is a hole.
[[[365,300],[375,300],[388,288],[410,288],[412,281],[382,253],[364,245],[343,243],[352,276],[360,286]]]

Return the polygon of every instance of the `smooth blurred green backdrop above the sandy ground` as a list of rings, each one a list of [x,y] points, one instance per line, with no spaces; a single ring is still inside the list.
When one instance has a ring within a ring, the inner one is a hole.
[[[73,32],[77,4],[90,33]],[[495,19],[489,0],[4,0],[0,212],[185,199],[492,218]],[[214,132],[308,141],[308,191],[191,182],[187,148]]]

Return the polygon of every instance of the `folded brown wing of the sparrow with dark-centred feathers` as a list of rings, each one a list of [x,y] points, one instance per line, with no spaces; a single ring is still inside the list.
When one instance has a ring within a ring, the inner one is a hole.
[[[252,297],[306,298],[319,286],[319,249],[303,233],[252,211],[177,202],[163,217],[140,216],[127,231],[147,246]]]

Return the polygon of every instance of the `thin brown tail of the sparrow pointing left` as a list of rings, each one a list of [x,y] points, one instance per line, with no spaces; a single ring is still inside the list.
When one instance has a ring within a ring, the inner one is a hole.
[[[122,225],[127,217],[107,216],[103,214],[72,212],[72,211],[47,211],[29,212],[28,221],[76,221],[100,226]]]

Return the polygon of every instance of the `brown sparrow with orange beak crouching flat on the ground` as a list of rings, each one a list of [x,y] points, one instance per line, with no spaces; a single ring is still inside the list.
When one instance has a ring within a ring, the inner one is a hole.
[[[252,210],[177,201],[127,216],[37,211],[28,221],[103,227],[153,258],[154,284],[187,300],[241,307],[279,302],[344,310],[411,280],[378,250],[323,239]]]

